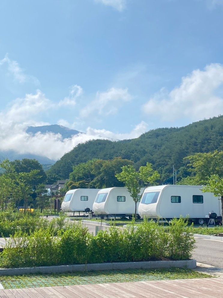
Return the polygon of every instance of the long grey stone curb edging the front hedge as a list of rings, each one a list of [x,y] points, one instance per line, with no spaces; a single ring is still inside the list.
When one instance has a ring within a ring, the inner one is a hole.
[[[155,269],[155,268],[196,268],[196,260],[183,261],[149,261],[149,262],[126,262],[126,263],[100,263],[62,266],[43,266],[31,268],[0,269],[0,275],[23,275],[23,274],[46,274],[64,273],[77,271],[101,271],[123,269]]]

